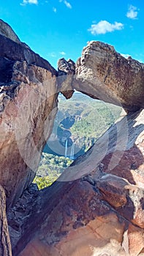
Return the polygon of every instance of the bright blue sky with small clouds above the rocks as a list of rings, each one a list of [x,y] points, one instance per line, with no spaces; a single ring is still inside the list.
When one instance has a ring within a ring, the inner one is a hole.
[[[0,0],[0,18],[53,67],[91,40],[144,62],[144,0]]]

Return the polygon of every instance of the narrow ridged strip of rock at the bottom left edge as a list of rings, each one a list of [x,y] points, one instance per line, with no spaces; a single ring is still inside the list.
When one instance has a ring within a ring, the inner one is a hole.
[[[6,216],[6,196],[0,185],[0,256],[12,256],[10,235]]]

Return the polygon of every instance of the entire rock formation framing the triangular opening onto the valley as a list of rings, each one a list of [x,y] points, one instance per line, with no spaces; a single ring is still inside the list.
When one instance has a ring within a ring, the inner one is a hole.
[[[0,70],[0,255],[144,255],[144,64],[88,42],[57,72],[0,20]],[[58,92],[74,89],[129,114],[38,191]]]

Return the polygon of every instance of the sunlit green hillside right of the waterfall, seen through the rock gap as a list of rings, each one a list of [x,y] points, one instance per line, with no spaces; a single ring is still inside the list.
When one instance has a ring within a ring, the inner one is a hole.
[[[121,108],[103,102],[93,102],[80,113],[81,120],[71,127],[72,138],[87,151],[96,139],[115,123],[120,113]]]

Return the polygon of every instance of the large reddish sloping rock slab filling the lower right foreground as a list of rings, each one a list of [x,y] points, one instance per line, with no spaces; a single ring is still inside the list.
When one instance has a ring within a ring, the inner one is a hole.
[[[143,255],[143,128],[121,118],[40,191],[13,255]]]

